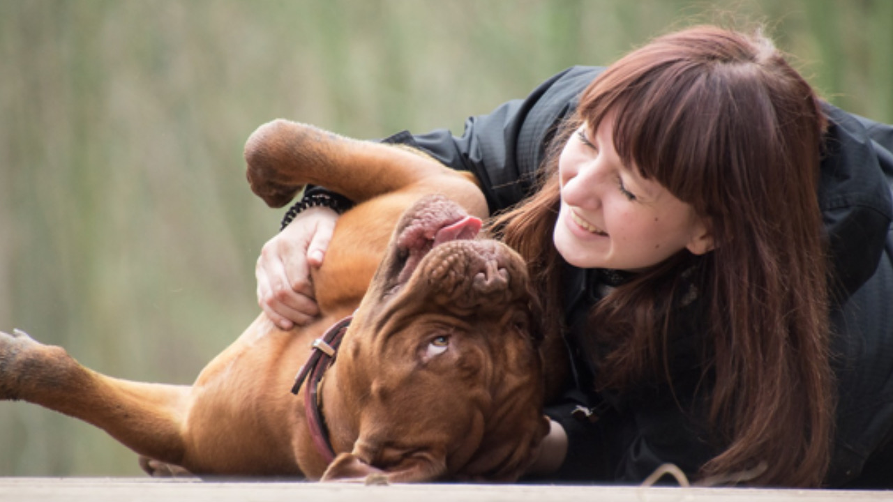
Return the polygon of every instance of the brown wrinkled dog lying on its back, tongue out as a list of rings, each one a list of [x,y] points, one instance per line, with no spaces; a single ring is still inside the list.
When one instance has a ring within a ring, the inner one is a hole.
[[[517,479],[548,427],[536,306],[521,258],[473,239],[480,221],[468,213],[486,216],[486,205],[472,180],[288,121],[255,131],[246,162],[270,205],[307,183],[358,203],[313,276],[317,322],[282,331],[262,314],[191,387],[113,379],[21,331],[0,333],[0,398],[93,423],[156,473]],[[426,197],[436,192],[452,200]],[[346,330],[310,348],[350,314]],[[323,353],[339,339],[332,362]]]

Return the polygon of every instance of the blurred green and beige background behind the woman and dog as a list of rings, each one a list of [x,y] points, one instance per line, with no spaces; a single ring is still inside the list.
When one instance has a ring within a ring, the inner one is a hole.
[[[569,65],[742,20],[893,121],[893,0],[0,0],[0,330],[188,383],[258,312],[281,216],[245,182],[258,125],[459,133]],[[0,403],[0,475],[140,473],[103,432]]]

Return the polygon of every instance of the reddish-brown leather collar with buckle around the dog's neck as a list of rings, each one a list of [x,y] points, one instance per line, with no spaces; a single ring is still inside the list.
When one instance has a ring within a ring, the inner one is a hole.
[[[322,373],[335,361],[335,355],[338,353],[338,347],[341,345],[341,339],[347,326],[354,319],[353,315],[348,315],[344,319],[336,322],[327,330],[321,338],[313,340],[310,351],[310,358],[301,366],[295,377],[295,385],[291,388],[292,394],[297,394],[301,386],[307,381],[307,390],[304,393],[304,412],[307,419],[307,428],[310,430],[310,437],[313,439],[313,446],[327,464],[331,464],[335,459],[335,450],[332,449],[329,440],[329,431],[326,429],[325,418],[322,416],[320,406],[321,396],[317,396],[320,389],[320,381]]]

